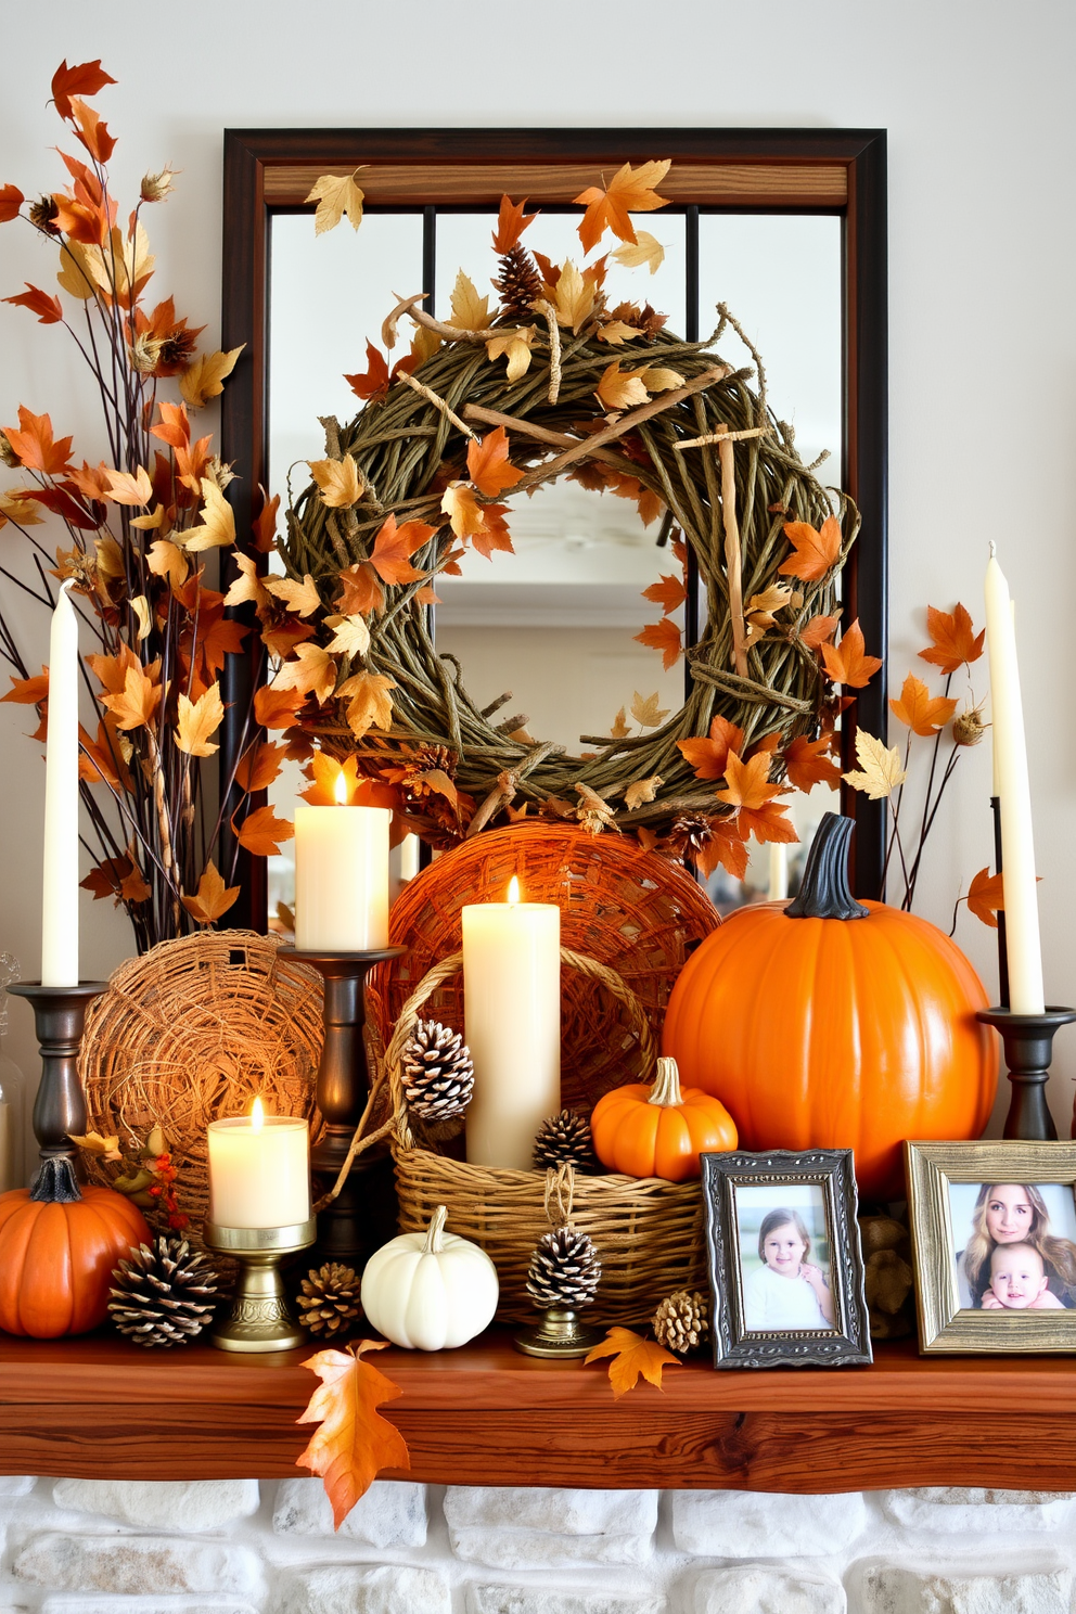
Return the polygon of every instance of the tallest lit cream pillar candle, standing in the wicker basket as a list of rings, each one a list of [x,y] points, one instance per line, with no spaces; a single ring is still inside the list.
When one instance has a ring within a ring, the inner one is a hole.
[[[513,880],[508,902],[463,909],[466,1157],[529,1172],[534,1135],[560,1110],[560,909],[518,894]]]

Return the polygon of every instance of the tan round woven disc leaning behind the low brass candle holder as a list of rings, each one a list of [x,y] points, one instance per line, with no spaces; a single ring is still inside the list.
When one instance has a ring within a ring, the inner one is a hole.
[[[316,1133],[321,996],[318,972],[273,938],[210,930],[121,964],[90,1004],[79,1057],[87,1131],[144,1143],[161,1123],[192,1241],[208,1210],[211,1120],[247,1114],[261,1094],[269,1114],[305,1115]]]

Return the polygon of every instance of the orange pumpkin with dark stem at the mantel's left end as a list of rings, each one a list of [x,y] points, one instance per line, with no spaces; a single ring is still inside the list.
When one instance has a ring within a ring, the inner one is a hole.
[[[69,1162],[48,1160],[32,1190],[0,1194],[0,1328],[34,1340],[97,1328],[113,1267],[150,1241],[129,1199],[79,1191]]]

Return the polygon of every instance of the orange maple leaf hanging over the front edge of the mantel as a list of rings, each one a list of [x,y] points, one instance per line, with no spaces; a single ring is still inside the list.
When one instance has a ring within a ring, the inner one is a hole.
[[[377,1412],[403,1391],[363,1361],[366,1351],[384,1349],[384,1340],[360,1340],[352,1351],[318,1351],[302,1362],[321,1385],[295,1422],[321,1428],[295,1466],[321,1475],[337,1530],[382,1469],[411,1467],[403,1435]]]

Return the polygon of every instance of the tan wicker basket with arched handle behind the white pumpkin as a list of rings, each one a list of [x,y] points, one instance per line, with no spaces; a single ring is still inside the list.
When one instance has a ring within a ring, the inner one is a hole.
[[[705,1227],[702,1191],[694,1183],[658,1177],[589,1177],[571,1165],[548,1172],[497,1170],[447,1159],[423,1148],[418,1123],[403,1099],[403,1049],[431,996],[461,967],[453,954],[432,968],[403,1006],[386,1052],[395,1119],[395,1175],[400,1230],[424,1228],[437,1209],[448,1207],[448,1228],[479,1244],[500,1278],[498,1322],[528,1322],[534,1301],[526,1291],[531,1256],[550,1225],[571,1220],[589,1233],[602,1257],[597,1315],[603,1323],[647,1322],[666,1294],[705,1285]],[[561,949],[566,978],[581,976],[611,997],[631,1025],[636,1080],[649,1080],[657,1047],[636,994],[607,965]],[[619,1080],[632,1080],[621,1067]]]

